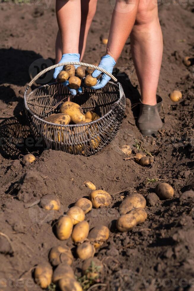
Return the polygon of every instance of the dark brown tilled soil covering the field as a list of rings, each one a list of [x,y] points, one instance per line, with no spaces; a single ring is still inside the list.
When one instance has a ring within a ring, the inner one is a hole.
[[[163,129],[156,137],[144,138],[136,127],[139,85],[128,40],[116,66],[126,96],[123,124],[112,143],[98,154],[84,157],[42,151],[36,146],[15,146],[16,139],[30,137],[23,111],[23,93],[30,80],[28,68],[38,58],[54,61],[54,3],[44,9],[46,4],[42,2],[42,6],[0,6],[0,135],[13,139],[10,146],[1,138],[0,146],[0,290],[40,290],[32,279],[33,266],[47,260],[55,245],[67,243],[74,251],[70,239],[61,242],[55,237],[53,224],[78,198],[88,197],[85,180],[112,195],[111,207],[93,209],[86,216],[90,228],[104,224],[111,230],[110,238],[96,253],[104,263],[101,283],[106,287],[93,290],[193,290],[194,71],[182,62],[183,57],[194,55],[193,7],[169,2],[170,5],[159,8],[164,37],[158,86],[158,94],[163,98]],[[109,1],[98,1],[84,61],[99,61],[104,54],[100,34],[108,34],[111,11]],[[183,94],[178,103],[171,102],[168,96],[174,89]],[[135,153],[136,142],[155,155],[151,167],[141,167],[133,159],[124,160],[119,147],[127,143]],[[20,154],[28,152],[34,152],[36,162],[24,166]],[[158,183],[152,179],[171,184],[174,198],[161,201],[150,194]],[[148,218],[128,233],[120,234],[114,226],[118,206],[134,192],[147,197]],[[58,196],[60,212],[39,208],[37,203],[45,194]],[[77,276],[81,264],[74,260]],[[124,275],[131,281],[126,281]]]

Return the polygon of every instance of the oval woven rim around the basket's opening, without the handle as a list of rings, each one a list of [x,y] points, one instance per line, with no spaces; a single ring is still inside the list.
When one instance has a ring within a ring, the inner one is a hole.
[[[114,83],[114,82],[108,82],[108,83],[111,83],[112,85],[114,85],[114,86],[117,86],[117,87],[119,87],[119,89],[120,89],[120,86],[121,86],[121,84],[119,83],[119,82],[117,82],[117,83]],[[48,84],[45,84],[45,85],[42,85],[42,86],[39,86],[38,88],[36,88],[36,89],[34,89],[34,90],[32,90],[27,96],[30,96],[34,91],[36,91],[36,90],[38,90],[39,88],[44,88],[44,87],[47,87],[47,86],[51,86],[51,85],[56,85],[56,84],[58,84],[58,82],[53,82],[53,83],[48,83]],[[26,96],[26,97],[27,97]],[[44,120],[44,119],[42,119],[42,118],[40,118],[40,117],[38,117],[36,114],[34,114],[32,111],[31,111],[31,109],[27,106],[27,100],[25,100],[26,102],[25,102],[25,108],[26,108],[26,110],[30,113],[30,115],[31,116],[33,116],[35,119],[37,119],[38,121],[41,121],[41,122],[43,122],[43,124],[45,123],[45,124],[49,124],[49,125],[54,125],[54,126],[60,126],[60,127],[64,127],[64,128],[68,128],[68,127],[83,127],[83,126],[86,126],[86,125],[89,125],[89,124],[96,124],[97,122],[99,122],[99,121],[101,121],[101,120],[103,120],[106,116],[108,116],[110,113],[112,113],[113,112],[113,109],[112,109],[112,107],[111,107],[111,109],[109,110],[109,112],[107,112],[107,113],[105,113],[103,116],[101,116],[100,118],[98,118],[98,119],[96,119],[96,120],[93,120],[93,121],[90,121],[90,122],[87,122],[87,123],[83,123],[83,124],[58,124],[58,123],[52,123],[52,122],[50,122],[50,121],[46,121],[46,120]],[[119,103],[121,101],[121,96],[119,95],[119,99],[117,100],[117,101],[115,101],[114,103],[113,103],[113,105],[114,104],[117,104],[117,103]],[[113,106],[112,105],[112,106]]]

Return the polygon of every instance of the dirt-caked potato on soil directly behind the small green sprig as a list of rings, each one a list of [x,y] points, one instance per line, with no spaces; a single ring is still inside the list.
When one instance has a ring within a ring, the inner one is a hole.
[[[103,264],[96,257],[87,259],[82,265],[82,274],[89,279],[97,279],[103,271]]]

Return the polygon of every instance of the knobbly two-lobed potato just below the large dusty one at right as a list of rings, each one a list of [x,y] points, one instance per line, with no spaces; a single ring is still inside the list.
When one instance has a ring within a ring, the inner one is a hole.
[[[120,232],[131,230],[137,224],[146,220],[147,213],[143,208],[135,208],[117,219],[116,226]]]

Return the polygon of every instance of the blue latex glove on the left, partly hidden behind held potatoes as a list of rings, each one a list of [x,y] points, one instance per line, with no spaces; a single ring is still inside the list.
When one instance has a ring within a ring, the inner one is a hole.
[[[61,61],[59,62],[59,64],[60,63],[65,63],[65,62],[79,62],[79,58],[80,58],[79,53],[64,53],[62,58],[61,58]],[[75,66],[76,69],[77,69],[77,67],[79,67],[79,66]],[[56,79],[58,74],[62,70],[63,70],[63,66],[55,68],[55,71],[54,71],[54,74],[53,74],[53,78]],[[62,84],[63,84],[63,86],[68,86],[69,85],[69,81],[65,81]],[[68,90],[71,93],[71,95],[73,95],[73,96],[75,96],[77,94],[75,89],[71,89],[71,88],[68,87]],[[82,93],[82,87],[79,87],[77,89],[77,91],[79,93]]]

